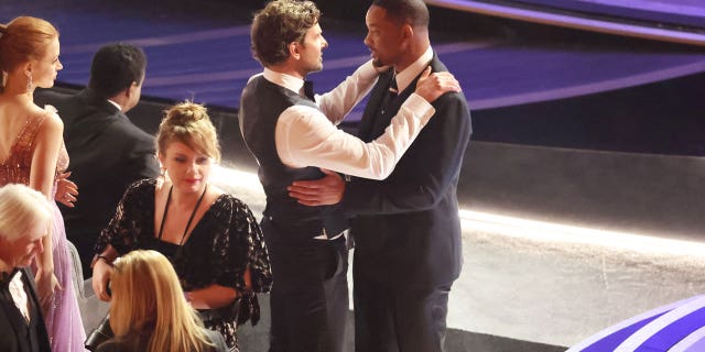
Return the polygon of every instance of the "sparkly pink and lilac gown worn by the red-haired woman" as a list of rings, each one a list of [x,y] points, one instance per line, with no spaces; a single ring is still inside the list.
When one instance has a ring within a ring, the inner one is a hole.
[[[36,144],[42,123],[45,119],[51,119],[56,110],[47,107],[44,113],[31,116],[26,119],[24,127],[20,131],[14,144],[10,148],[7,160],[0,162],[0,186],[7,184],[30,184],[30,167],[32,165],[32,154]],[[68,153],[62,143],[56,165],[56,174],[68,167]],[[54,193],[56,183],[54,183]],[[56,202],[52,201],[54,208],[54,223],[52,232],[52,252],[54,255],[54,275],[64,288],[56,290],[54,302],[44,317],[46,331],[52,343],[52,351],[75,352],[85,351],[84,341],[86,332],[84,330],[78,300],[74,290],[74,263],[68,252],[66,240],[66,229]]]

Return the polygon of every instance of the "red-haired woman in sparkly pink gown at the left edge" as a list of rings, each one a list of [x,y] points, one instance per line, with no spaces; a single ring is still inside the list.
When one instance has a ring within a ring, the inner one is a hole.
[[[63,68],[58,32],[48,22],[19,16],[0,24],[0,186],[23,184],[47,199],[72,206],[76,193],[56,194],[68,166],[56,110],[34,105],[34,88],[50,88]],[[54,351],[84,351],[85,332],[73,285],[64,220],[52,201],[54,222],[36,256],[35,278]]]

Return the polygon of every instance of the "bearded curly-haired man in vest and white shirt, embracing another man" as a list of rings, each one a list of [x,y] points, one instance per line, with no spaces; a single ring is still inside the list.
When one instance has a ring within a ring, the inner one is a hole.
[[[329,170],[382,179],[435,110],[459,90],[452,75],[426,72],[386,133],[365,143],[336,128],[375,85],[365,63],[334,90],[311,94],[304,79],[323,68],[327,42],[311,1],[278,0],[254,15],[252,51],[264,72],[240,99],[240,129],[259,163],[267,194],[262,230],[272,264],[270,351],[341,351],[348,308],[347,221],[336,207],[305,207],[289,197],[293,180]],[[321,169],[324,170],[321,170]]]

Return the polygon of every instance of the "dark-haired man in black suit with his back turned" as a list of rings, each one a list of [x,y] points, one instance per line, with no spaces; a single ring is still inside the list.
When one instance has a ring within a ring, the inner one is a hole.
[[[145,67],[141,48],[105,45],[94,55],[88,87],[50,101],[64,120],[68,169],[80,190],[75,207],[62,207],[62,213],[84,277],[90,277],[93,245],[124,190],[138,179],[159,175],[154,138],[126,116],[140,100]]]

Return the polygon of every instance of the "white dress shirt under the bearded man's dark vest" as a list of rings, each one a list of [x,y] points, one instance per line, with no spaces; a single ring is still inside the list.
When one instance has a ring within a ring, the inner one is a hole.
[[[303,79],[264,69],[264,78],[299,94]],[[316,166],[351,176],[383,179],[435,113],[425,99],[412,94],[401,106],[384,134],[365,143],[335,124],[357,105],[377,82],[371,61],[332,91],[316,96],[318,109],[292,106],[275,127],[276,153],[290,167]]]

